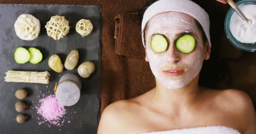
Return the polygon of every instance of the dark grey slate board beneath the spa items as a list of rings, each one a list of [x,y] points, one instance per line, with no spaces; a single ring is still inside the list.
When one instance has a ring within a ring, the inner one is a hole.
[[[16,36],[14,23],[21,14],[32,14],[40,20],[41,31],[32,41],[24,41]],[[55,41],[48,37],[45,24],[53,15],[64,15],[69,21],[70,30],[67,36]],[[75,25],[80,19],[89,19],[93,31],[85,37],[75,31]],[[36,47],[43,53],[43,61],[39,64],[17,64],[13,53],[19,46]],[[101,6],[100,5],[30,5],[30,4],[0,4],[0,133],[1,134],[96,134],[100,108],[100,49],[101,48]],[[66,73],[77,73],[64,69],[56,73],[48,67],[48,59],[52,54],[58,54],[64,63],[72,49],[79,51],[78,65],[91,61],[96,65],[95,72],[89,78],[81,78],[82,90],[80,100],[70,107],[65,107],[63,126],[49,127],[49,123],[39,125],[40,115],[34,108],[43,95],[53,94],[55,82]],[[4,82],[8,70],[48,71],[51,74],[50,83],[16,83]],[[24,124],[13,120],[19,113],[14,110],[14,104],[20,101],[14,96],[17,89],[24,88],[29,92],[23,101],[31,108],[23,113],[29,117]],[[70,122],[69,122],[70,121]]]

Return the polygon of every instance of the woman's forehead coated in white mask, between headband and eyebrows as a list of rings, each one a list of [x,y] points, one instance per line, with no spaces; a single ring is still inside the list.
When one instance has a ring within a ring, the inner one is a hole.
[[[185,32],[200,37],[200,28],[197,21],[185,13],[171,11],[153,16],[145,28],[145,37],[148,38],[152,34],[160,33],[176,38],[178,34]]]

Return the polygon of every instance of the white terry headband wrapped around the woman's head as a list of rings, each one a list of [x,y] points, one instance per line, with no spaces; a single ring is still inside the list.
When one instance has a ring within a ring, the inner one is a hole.
[[[208,14],[205,12],[203,8],[201,8],[196,3],[190,0],[158,0],[157,2],[153,3],[152,5],[147,8],[143,15],[142,23],[141,23],[141,35],[142,35],[142,43],[145,47],[144,42],[144,28],[154,15],[158,13],[174,11],[174,12],[181,12],[186,13],[193,18],[195,18],[200,25],[203,27],[203,31],[207,37],[207,40],[211,46],[210,40],[210,19]]]

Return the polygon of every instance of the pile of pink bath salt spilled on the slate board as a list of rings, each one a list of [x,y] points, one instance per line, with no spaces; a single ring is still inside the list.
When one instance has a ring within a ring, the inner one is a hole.
[[[58,125],[61,118],[66,113],[63,105],[59,104],[55,95],[49,95],[40,99],[40,105],[37,107],[37,113],[43,116],[44,121]],[[43,122],[43,121],[42,121]]]

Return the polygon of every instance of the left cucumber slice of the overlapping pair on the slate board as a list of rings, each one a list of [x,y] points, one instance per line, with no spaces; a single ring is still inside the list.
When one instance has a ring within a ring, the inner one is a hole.
[[[24,47],[18,47],[14,52],[14,60],[18,64],[24,64],[30,59],[30,53]]]

